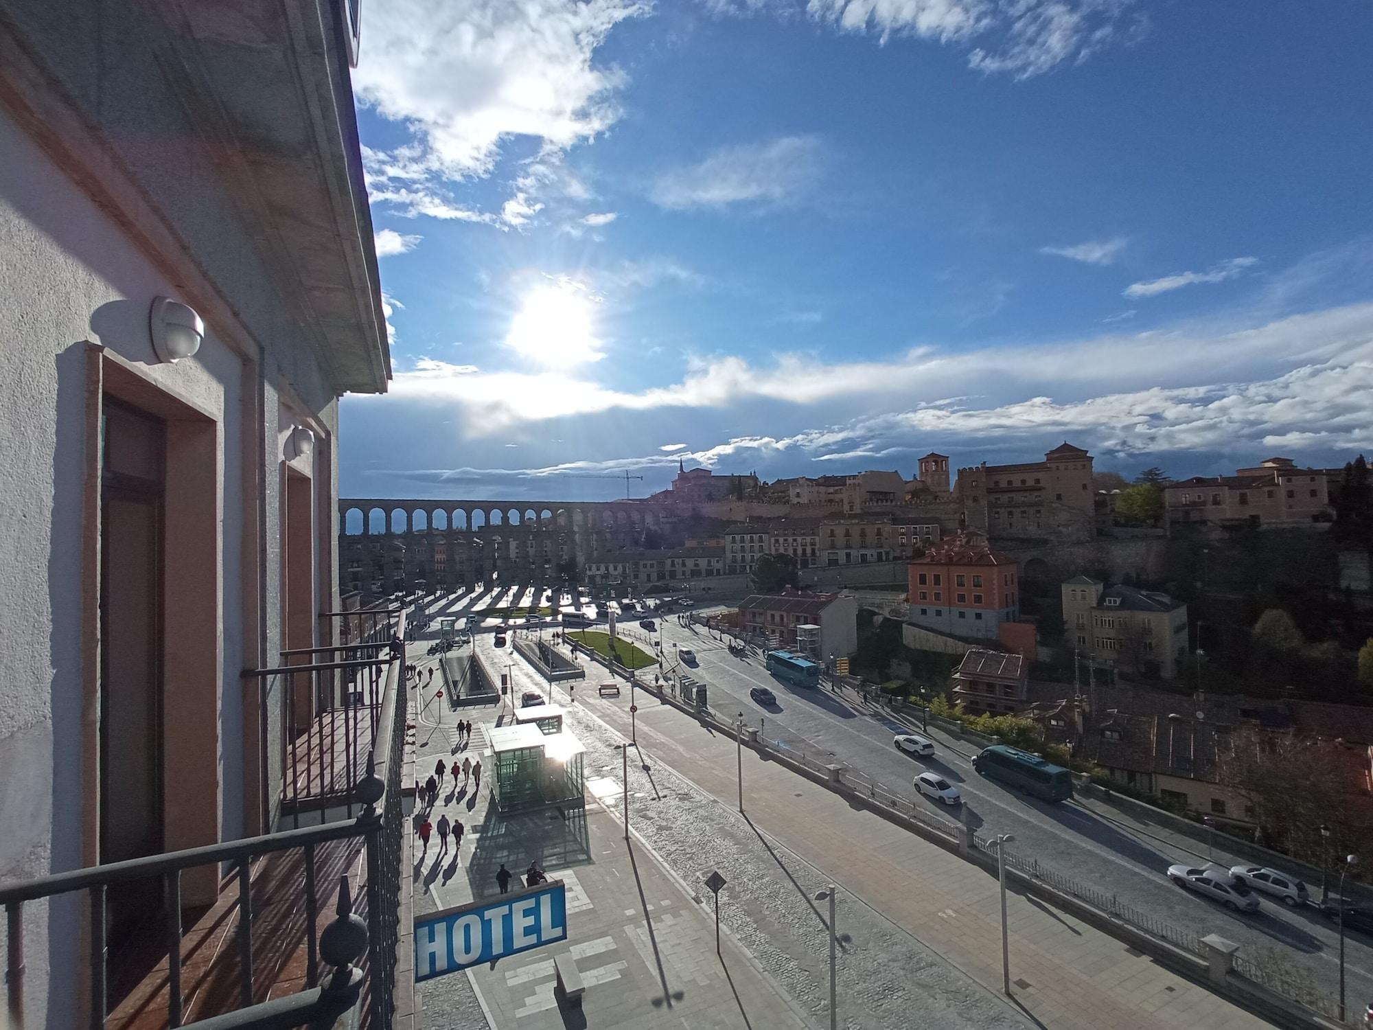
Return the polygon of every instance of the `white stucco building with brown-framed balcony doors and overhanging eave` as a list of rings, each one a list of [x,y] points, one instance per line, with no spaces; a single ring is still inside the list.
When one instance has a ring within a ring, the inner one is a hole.
[[[259,670],[341,639],[338,398],[391,371],[356,33],[325,0],[4,5],[0,886],[276,828],[319,699]],[[15,1025],[99,1025],[92,954],[151,887],[23,902]]]

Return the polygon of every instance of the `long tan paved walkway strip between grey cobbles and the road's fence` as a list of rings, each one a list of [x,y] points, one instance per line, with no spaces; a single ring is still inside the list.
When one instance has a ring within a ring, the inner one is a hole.
[[[652,703],[647,695],[641,699],[637,735],[644,751],[730,812],[737,803],[735,742],[703,729],[671,706]],[[623,700],[584,699],[577,707],[629,732]],[[579,714],[578,733],[585,721]],[[836,875],[843,893],[861,898],[1000,993],[994,876],[747,748],[743,776],[747,821],[732,813],[740,825]],[[1008,906],[1013,996],[1046,1030],[1269,1026],[1038,898],[1012,891]]]

